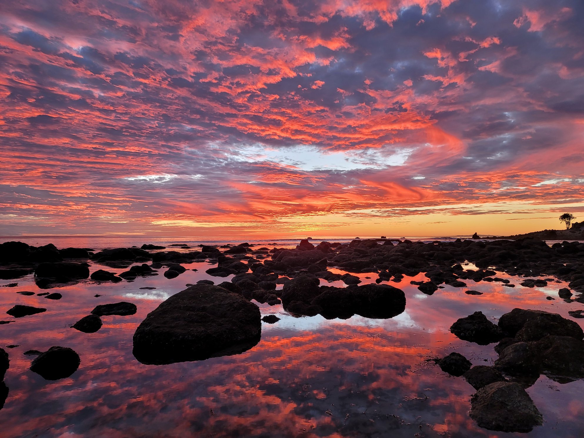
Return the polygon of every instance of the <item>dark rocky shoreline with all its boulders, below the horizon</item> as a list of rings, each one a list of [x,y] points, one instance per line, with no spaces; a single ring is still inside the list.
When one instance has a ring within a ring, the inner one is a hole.
[[[180,251],[144,244],[142,248],[96,252],[90,248],[57,249],[54,245],[34,247],[22,242],[5,242],[0,244],[0,279],[18,280],[34,274],[37,286],[47,289],[80,281],[134,281],[137,277],[160,273],[172,279],[186,272],[182,264],[216,264],[206,273],[217,277],[217,281],[201,280],[200,284],[187,285],[186,290],[168,298],[138,326],[134,334],[134,356],[145,364],[203,360],[252,348],[260,339],[262,325],[258,307],[252,300],[281,304],[295,317],[319,314],[326,319],[346,319],[353,315],[392,318],[406,308],[405,294],[396,286],[405,276],[420,273],[426,280],[412,281],[412,284],[426,295],[446,285],[467,288],[481,282],[498,282],[515,287],[509,280],[496,277],[498,271],[521,277],[520,284],[524,287],[545,286],[561,279],[569,287],[558,291],[558,299],[584,303],[584,244],[579,242],[563,241],[548,246],[543,240],[533,238],[427,243],[407,239],[354,239],[347,244],[314,245],[304,239],[293,249],[253,244],[223,248],[177,245],[176,249]],[[465,263],[474,264],[475,269],[465,269]],[[115,274],[95,269],[96,264],[127,270]],[[347,273],[336,273],[335,269]],[[351,273],[371,273],[377,276],[377,284],[360,285],[359,277]],[[230,277],[230,281],[223,281],[225,277]],[[321,285],[321,280],[342,281],[346,287]],[[395,286],[386,284],[390,280]],[[480,294],[474,290],[466,292]],[[60,294],[55,295],[61,298]],[[15,306],[8,314],[18,318],[44,311],[44,308]],[[132,303],[100,305],[72,327],[86,333],[96,332],[102,326],[102,315],[131,315],[135,311]],[[477,390],[470,415],[479,426],[524,432],[541,424],[541,414],[533,402],[530,404],[524,388],[533,384],[540,374],[558,381],[583,378],[584,357],[580,356],[584,342],[579,325],[559,315],[519,308],[510,314],[503,315],[496,325],[481,312],[475,312],[454,322],[451,328],[461,340],[479,345],[498,342],[495,351],[499,359],[492,367],[471,369],[463,356],[456,356],[458,353],[437,362],[450,374],[464,375]],[[580,311],[571,312],[573,318],[580,318],[580,314]],[[270,318],[270,324],[277,322],[277,317],[274,318]],[[0,352],[3,357],[1,353],[4,350]],[[74,373],[82,360],[67,347],[54,346],[47,352],[37,353],[39,357],[34,359],[31,370],[43,377],[62,378],[51,368],[54,367],[51,357],[60,354],[69,363],[65,368],[71,373],[67,371],[63,376]],[[5,355],[8,369],[8,354]],[[44,369],[43,364],[47,364]],[[496,406],[503,411],[507,409],[502,403],[505,399],[515,399],[516,405],[521,406],[517,415],[507,416],[506,420],[501,420],[500,415],[495,419],[489,416],[488,412],[495,412]]]

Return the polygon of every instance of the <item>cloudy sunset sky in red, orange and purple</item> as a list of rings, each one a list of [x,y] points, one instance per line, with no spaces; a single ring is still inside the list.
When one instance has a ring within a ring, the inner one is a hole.
[[[0,234],[559,229],[584,219],[583,22],[582,0],[4,2]]]

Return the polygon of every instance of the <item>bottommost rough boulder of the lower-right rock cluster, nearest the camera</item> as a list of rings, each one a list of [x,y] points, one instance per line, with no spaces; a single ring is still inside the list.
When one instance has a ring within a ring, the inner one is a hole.
[[[486,385],[471,398],[470,416],[477,425],[500,432],[530,432],[543,417],[529,394],[517,383]]]

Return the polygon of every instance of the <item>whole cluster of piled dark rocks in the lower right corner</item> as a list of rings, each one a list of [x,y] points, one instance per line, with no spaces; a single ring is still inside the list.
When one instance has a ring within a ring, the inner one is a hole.
[[[584,378],[584,332],[576,322],[540,310],[513,309],[498,324],[482,312],[460,318],[450,331],[481,345],[498,342],[493,366],[474,366],[462,354],[436,360],[453,376],[463,376],[477,390],[470,416],[481,427],[529,432],[543,418],[524,388],[540,374],[559,383]]]

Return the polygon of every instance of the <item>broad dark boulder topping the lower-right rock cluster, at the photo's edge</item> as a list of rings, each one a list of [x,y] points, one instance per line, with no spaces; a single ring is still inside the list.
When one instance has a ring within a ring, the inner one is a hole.
[[[499,318],[499,327],[523,341],[535,341],[547,335],[584,338],[582,328],[575,321],[541,310],[515,308]]]

